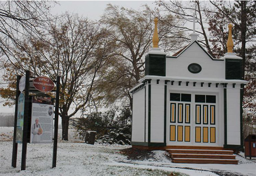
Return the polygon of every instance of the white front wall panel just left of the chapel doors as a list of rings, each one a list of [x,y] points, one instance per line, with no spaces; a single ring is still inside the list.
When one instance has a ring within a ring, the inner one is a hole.
[[[164,137],[164,81],[151,81],[150,142],[163,142]]]

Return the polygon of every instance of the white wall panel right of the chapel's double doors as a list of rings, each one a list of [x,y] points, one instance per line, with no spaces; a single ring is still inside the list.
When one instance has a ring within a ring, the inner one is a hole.
[[[227,144],[240,145],[240,89],[227,88]]]

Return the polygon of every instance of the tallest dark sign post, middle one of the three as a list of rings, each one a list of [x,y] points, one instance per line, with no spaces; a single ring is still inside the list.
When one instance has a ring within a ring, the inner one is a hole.
[[[25,86],[25,105],[24,105],[24,122],[23,122],[23,137],[22,137],[22,166],[21,170],[26,170],[26,146],[28,133],[28,118],[29,118],[29,76],[30,72],[26,70],[26,86]]]

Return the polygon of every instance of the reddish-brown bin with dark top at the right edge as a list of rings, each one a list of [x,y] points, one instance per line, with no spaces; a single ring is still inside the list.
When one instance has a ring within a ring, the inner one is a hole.
[[[250,157],[256,157],[256,134],[250,134],[244,139],[244,156]]]

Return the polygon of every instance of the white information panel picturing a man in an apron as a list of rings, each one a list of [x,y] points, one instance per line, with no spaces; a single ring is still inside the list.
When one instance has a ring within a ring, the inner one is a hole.
[[[32,98],[30,143],[52,143],[53,98],[36,94]]]

